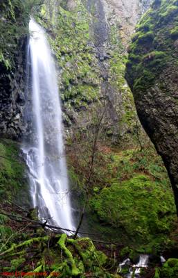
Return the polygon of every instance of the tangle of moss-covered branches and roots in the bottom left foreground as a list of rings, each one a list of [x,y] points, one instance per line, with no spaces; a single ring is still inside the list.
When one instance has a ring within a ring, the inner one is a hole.
[[[21,272],[23,268],[23,272],[28,272],[29,276],[35,272],[44,272],[48,278],[57,275],[64,278],[84,278],[87,275],[120,278],[119,275],[109,273],[109,269],[113,268],[112,260],[97,251],[89,238],[73,240],[67,238],[66,234],[33,237],[20,244],[14,243],[8,250],[1,250],[0,260],[2,272]]]

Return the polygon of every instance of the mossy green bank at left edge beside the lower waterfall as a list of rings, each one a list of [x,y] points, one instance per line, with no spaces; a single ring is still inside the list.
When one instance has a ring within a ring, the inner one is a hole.
[[[9,218],[3,215],[4,210],[14,213],[11,202],[27,204],[27,181],[24,178],[24,161],[19,158],[19,146],[12,140],[0,140],[0,250],[6,243],[13,243],[16,236],[15,225],[9,223]],[[21,234],[21,238],[24,238]]]

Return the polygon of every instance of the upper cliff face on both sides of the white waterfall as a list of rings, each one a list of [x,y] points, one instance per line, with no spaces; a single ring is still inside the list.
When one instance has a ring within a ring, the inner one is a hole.
[[[24,38],[28,33],[30,1],[29,5],[22,2],[4,1],[0,19],[0,133],[11,138],[26,132],[22,120],[26,90]],[[123,77],[125,44],[150,1],[143,2],[44,1],[39,22],[51,34],[49,40],[60,66],[66,126],[87,126],[91,118],[87,120],[86,111],[96,110],[98,101],[105,100],[106,133],[112,140],[132,133],[136,113]]]

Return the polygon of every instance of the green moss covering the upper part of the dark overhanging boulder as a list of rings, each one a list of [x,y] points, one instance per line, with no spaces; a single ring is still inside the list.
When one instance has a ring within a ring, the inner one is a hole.
[[[178,15],[175,5],[177,3],[172,0],[161,1],[159,5],[154,3],[136,28],[126,73],[136,99],[140,92],[145,94],[176,55],[171,40],[177,39]],[[139,60],[133,59],[134,55],[139,56]]]

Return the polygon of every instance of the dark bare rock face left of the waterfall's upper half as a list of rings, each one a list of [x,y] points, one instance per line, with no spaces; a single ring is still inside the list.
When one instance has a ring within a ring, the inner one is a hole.
[[[14,139],[21,137],[24,131],[26,40],[19,49],[13,69],[8,70],[0,63],[0,133]]]

